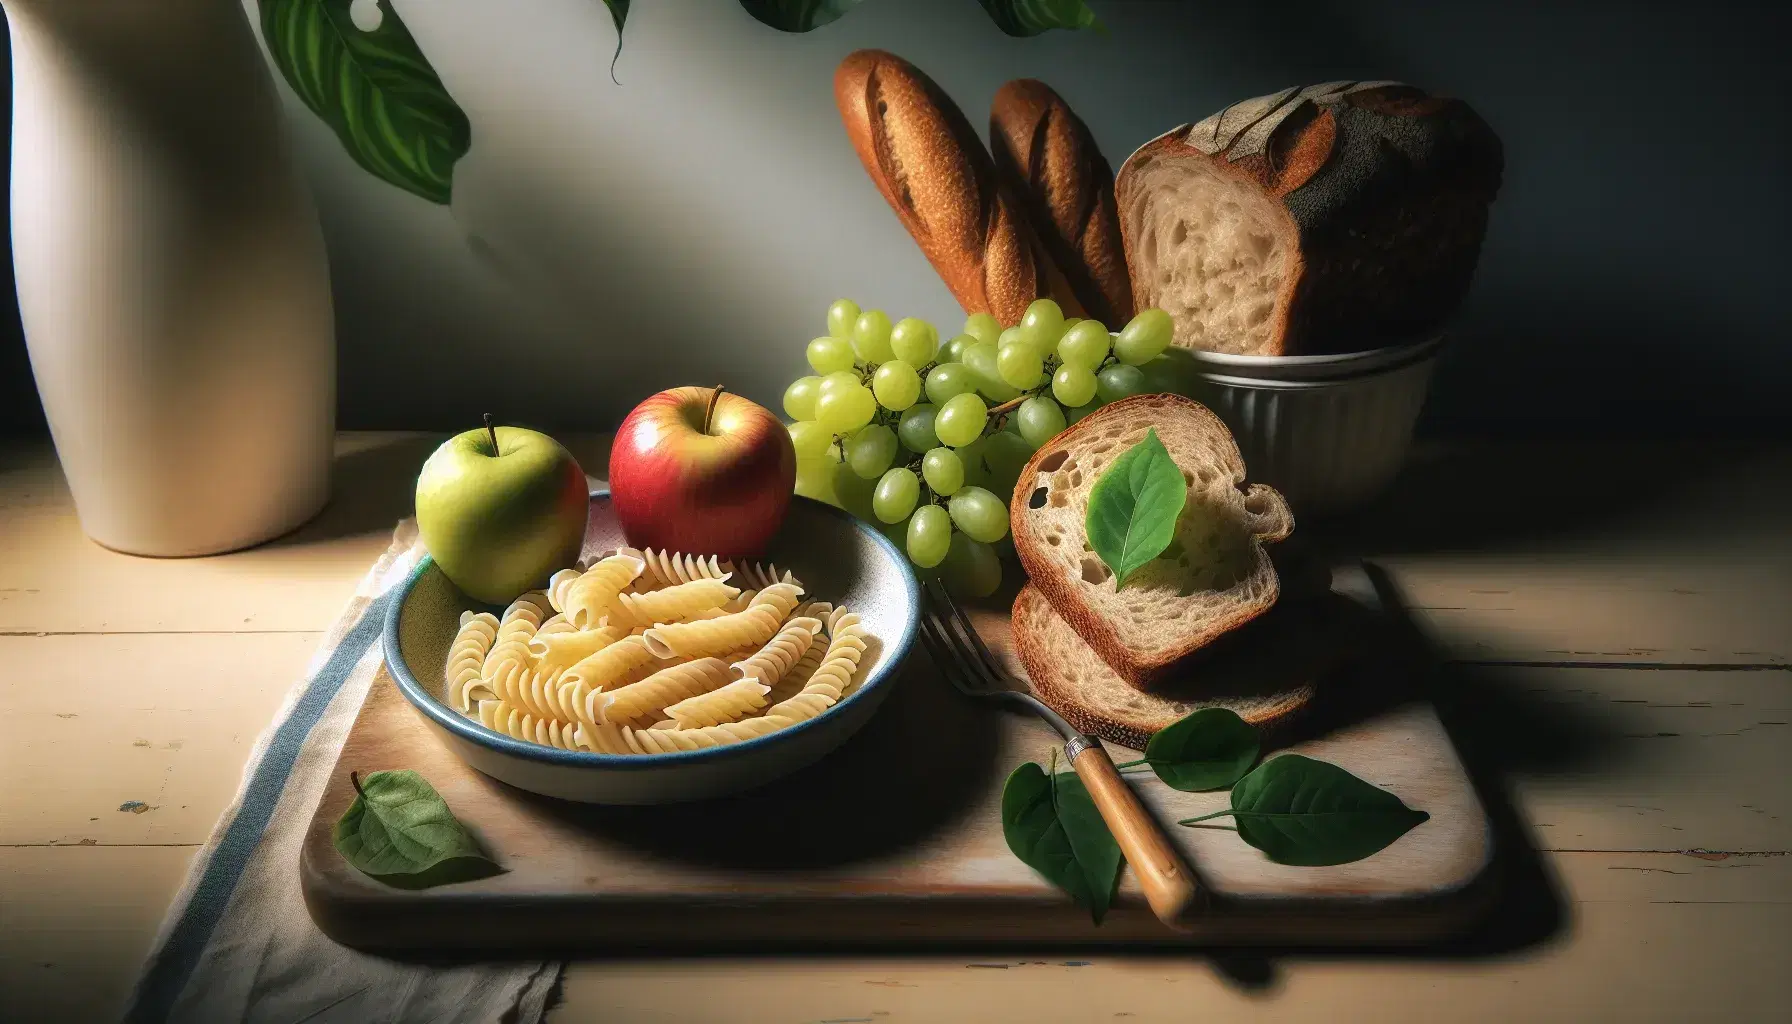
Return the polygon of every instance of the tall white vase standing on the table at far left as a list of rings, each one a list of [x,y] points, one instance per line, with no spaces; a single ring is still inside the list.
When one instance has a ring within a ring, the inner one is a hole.
[[[0,4],[18,305],[82,529],[188,556],[297,527],[330,490],[330,276],[238,0]]]

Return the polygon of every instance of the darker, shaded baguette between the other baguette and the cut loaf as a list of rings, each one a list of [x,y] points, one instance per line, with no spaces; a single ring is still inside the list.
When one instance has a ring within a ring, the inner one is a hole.
[[[989,104],[989,154],[1082,310],[1109,330],[1125,326],[1133,282],[1115,172],[1090,127],[1045,82],[1016,79]]]

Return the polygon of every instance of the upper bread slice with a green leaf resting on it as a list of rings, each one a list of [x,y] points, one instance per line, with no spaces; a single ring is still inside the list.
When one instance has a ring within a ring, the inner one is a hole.
[[[1088,543],[1090,493],[1150,429],[1183,470],[1188,500],[1170,547],[1116,588]],[[1279,581],[1263,545],[1294,531],[1276,490],[1245,486],[1220,418],[1179,395],[1124,398],[1047,441],[1021,470],[1009,518],[1032,586],[1142,690],[1276,604]]]

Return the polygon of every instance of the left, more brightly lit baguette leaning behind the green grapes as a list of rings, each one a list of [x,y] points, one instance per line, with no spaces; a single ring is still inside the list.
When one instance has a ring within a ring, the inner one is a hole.
[[[971,122],[919,68],[857,50],[833,74],[833,100],[866,174],[964,312],[1014,325],[1043,294],[1073,303]]]

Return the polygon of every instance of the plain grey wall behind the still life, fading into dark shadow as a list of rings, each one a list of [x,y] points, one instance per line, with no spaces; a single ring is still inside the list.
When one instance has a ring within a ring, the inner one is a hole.
[[[1507,176],[1425,429],[1792,427],[1787,4],[1091,7],[1107,34],[1009,39],[971,0],[869,0],[808,36],[722,0],[640,0],[615,86],[597,0],[400,0],[473,120],[450,210],[362,174],[283,93],[332,246],[342,425],[496,407],[604,427],[652,387],[711,378],[774,400],[839,294],[955,325],[833,113],[833,65],[874,45],[978,124],[1000,82],[1041,77],[1116,165],[1296,82],[1464,97]],[[41,430],[9,292],[0,429]]]

